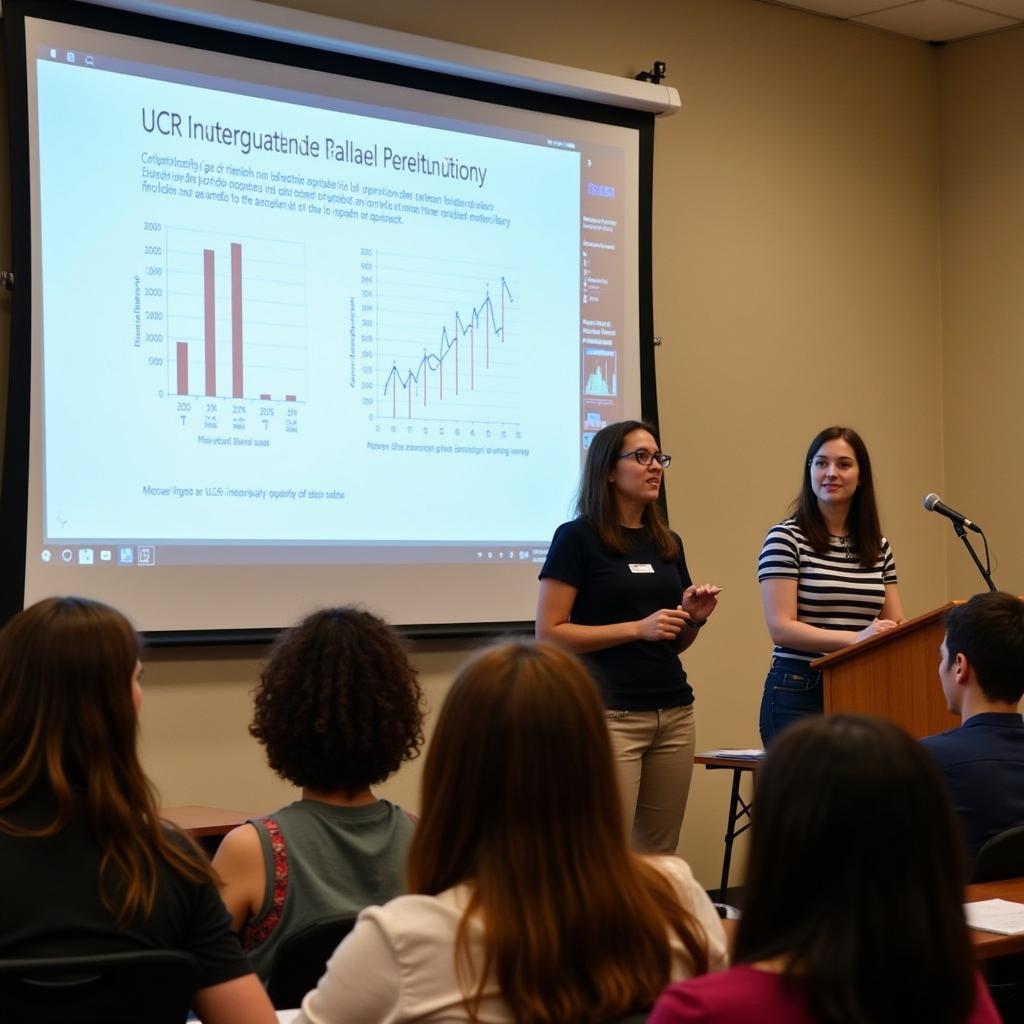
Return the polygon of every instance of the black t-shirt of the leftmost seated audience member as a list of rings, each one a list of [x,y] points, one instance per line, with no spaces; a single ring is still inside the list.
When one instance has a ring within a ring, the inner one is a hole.
[[[0,816],[38,827],[53,820],[53,806],[47,793],[34,791]],[[199,961],[200,988],[252,971],[217,890],[159,859],[153,912],[120,927],[100,898],[100,856],[80,816],[45,839],[0,831],[0,957],[175,949]]]

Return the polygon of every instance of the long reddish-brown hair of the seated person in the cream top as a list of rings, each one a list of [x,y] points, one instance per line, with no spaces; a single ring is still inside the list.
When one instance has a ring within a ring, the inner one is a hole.
[[[455,955],[473,1020],[492,976],[519,1024],[647,1007],[670,981],[670,932],[707,971],[700,924],[629,849],[601,701],[572,654],[506,643],[462,670],[427,754],[422,812],[410,891],[468,885]]]

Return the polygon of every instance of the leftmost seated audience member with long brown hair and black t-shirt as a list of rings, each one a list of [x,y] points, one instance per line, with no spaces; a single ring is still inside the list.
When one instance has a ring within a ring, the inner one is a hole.
[[[0,631],[0,957],[178,950],[199,963],[206,1024],[270,1024],[216,876],[160,820],[139,764],[140,649],[84,598]]]

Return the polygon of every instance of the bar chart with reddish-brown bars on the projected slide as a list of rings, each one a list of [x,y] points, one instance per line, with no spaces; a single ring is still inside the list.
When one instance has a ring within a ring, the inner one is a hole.
[[[301,402],[307,394],[303,246],[166,229],[169,391]]]

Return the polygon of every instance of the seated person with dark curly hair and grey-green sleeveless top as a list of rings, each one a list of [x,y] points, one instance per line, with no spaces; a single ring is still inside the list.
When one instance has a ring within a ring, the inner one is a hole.
[[[423,742],[420,684],[401,640],[358,608],[284,633],[249,731],[302,799],[224,837],[213,864],[260,977],[288,935],[406,891],[413,821],[371,791]]]

